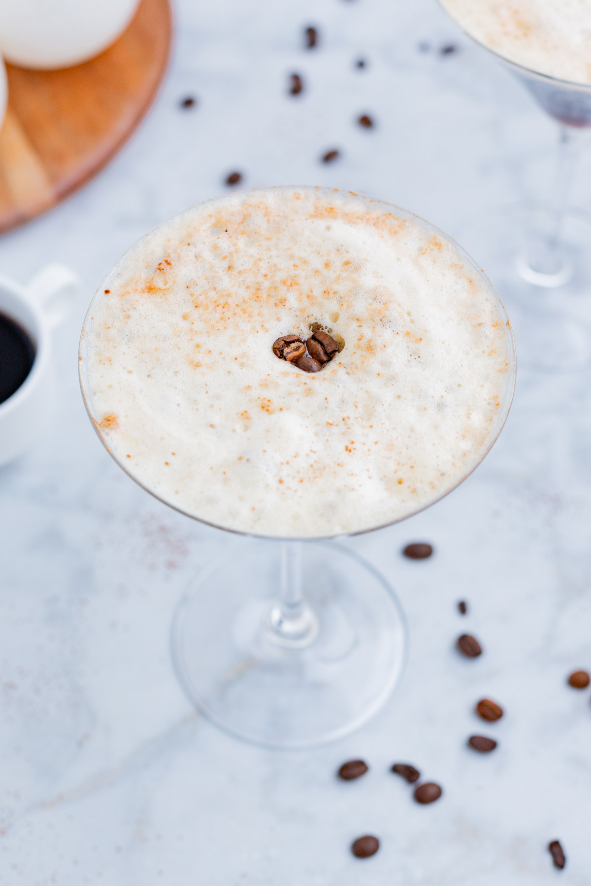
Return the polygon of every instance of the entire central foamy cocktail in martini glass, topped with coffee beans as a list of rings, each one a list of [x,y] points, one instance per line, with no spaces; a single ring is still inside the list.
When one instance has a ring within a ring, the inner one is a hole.
[[[245,536],[175,616],[191,702],[273,747],[361,726],[400,679],[406,629],[388,582],[334,540],[428,507],[493,445],[515,354],[486,276],[378,200],[236,193],[114,266],[84,322],[80,375],[131,478]]]

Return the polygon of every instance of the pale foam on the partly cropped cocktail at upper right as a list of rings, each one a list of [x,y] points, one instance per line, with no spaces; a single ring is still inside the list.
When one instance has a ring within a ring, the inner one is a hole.
[[[539,74],[591,83],[591,0],[439,0],[479,43]]]

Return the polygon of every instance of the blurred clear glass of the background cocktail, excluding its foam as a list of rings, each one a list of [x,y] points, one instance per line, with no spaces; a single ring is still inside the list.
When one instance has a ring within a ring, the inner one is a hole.
[[[460,237],[509,308],[520,361],[549,371],[583,369],[591,364],[591,217],[569,200],[591,127],[591,85],[530,70],[464,33],[556,120],[558,138],[546,198],[489,211],[470,220]]]

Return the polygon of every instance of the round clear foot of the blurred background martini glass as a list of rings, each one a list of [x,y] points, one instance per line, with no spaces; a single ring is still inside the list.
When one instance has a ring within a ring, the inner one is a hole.
[[[509,206],[472,220],[457,239],[507,308],[517,363],[569,371],[591,365],[591,216],[564,214],[562,249],[544,250],[548,208]]]

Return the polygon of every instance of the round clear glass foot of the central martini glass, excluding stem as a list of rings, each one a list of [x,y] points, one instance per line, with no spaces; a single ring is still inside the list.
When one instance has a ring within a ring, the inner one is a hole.
[[[406,627],[393,591],[346,548],[304,545],[315,618],[303,647],[273,626],[280,545],[238,545],[198,575],[175,615],[172,649],[187,696],[238,738],[273,748],[330,742],[361,727],[400,680]]]

